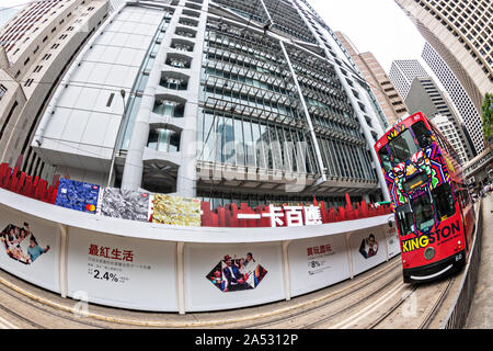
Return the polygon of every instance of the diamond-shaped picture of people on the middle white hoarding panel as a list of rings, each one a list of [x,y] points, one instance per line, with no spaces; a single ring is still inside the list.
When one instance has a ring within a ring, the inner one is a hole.
[[[221,292],[251,290],[259,286],[267,270],[253,258],[252,252],[237,258],[226,254],[207,274],[207,279]]]

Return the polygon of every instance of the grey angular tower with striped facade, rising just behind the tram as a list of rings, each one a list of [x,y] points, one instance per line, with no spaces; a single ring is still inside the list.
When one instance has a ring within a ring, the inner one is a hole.
[[[457,136],[460,139],[459,143],[456,139],[449,139],[448,141],[456,149],[461,163],[472,158],[472,152],[459,118],[451,109],[447,98],[439,91],[431,77],[414,78],[408,98],[405,98],[405,104],[411,114],[422,111],[429,118],[433,118],[435,115],[447,117],[449,124],[457,131]],[[444,122],[440,123],[444,124]]]

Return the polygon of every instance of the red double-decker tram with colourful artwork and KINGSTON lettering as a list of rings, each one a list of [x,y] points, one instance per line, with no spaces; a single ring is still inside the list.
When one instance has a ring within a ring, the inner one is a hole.
[[[393,125],[375,149],[395,214],[404,283],[460,270],[474,214],[454,148],[419,112]]]

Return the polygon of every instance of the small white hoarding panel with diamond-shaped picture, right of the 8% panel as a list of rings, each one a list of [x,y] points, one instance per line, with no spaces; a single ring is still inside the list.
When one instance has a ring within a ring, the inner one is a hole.
[[[359,274],[387,260],[383,226],[351,234],[354,274]]]

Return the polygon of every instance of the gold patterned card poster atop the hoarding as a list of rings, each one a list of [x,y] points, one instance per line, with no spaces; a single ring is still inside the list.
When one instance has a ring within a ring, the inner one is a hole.
[[[165,194],[154,194],[151,205],[152,223],[199,227],[200,200]]]

